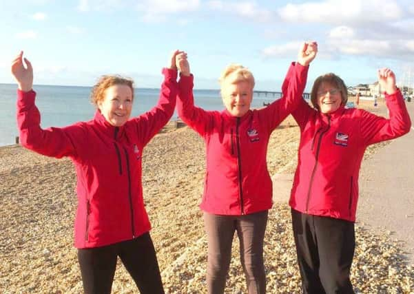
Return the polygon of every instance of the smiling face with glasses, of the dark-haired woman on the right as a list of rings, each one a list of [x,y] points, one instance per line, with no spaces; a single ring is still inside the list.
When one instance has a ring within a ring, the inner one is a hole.
[[[335,112],[342,103],[341,91],[330,83],[322,82],[316,94],[316,103],[322,114]]]

